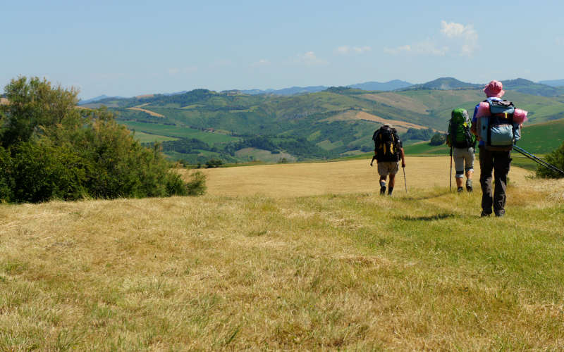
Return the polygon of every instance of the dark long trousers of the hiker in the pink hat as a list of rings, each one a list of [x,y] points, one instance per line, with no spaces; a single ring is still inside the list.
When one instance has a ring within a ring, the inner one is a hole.
[[[511,163],[510,151],[488,151],[480,146],[480,186],[482,187],[482,210],[491,214],[494,207],[496,215],[505,213],[505,188]],[[496,189],[491,191],[491,171],[494,170]]]

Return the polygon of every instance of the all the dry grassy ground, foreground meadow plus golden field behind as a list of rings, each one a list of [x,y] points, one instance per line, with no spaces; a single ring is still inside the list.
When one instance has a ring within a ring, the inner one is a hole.
[[[563,350],[564,180],[514,168],[482,219],[447,158],[407,158],[393,197],[368,163],[0,204],[0,351]]]

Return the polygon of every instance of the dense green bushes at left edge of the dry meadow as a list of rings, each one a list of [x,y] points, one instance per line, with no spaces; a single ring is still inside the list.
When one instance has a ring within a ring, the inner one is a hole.
[[[156,148],[141,146],[105,109],[79,109],[78,92],[19,77],[0,106],[0,201],[202,194]]]

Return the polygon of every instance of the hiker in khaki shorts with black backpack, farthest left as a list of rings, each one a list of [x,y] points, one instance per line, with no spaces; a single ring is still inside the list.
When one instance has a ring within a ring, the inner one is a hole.
[[[392,195],[393,186],[396,184],[396,173],[399,168],[399,160],[401,158],[401,167],[405,168],[405,155],[403,147],[398,137],[398,131],[386,123],[372,135],[374,140],[374,156],[370,161],[370,166],[374,163],[374,159],[378,162],[378,174],[380,175],[380,194],[386,194],[386,177],[389,175],[388,196]]]

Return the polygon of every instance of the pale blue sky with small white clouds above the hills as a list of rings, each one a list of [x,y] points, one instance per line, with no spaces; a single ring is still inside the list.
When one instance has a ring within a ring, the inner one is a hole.
[[[4,1],[0,84],[80,97],[563,79],[564,1]]]

